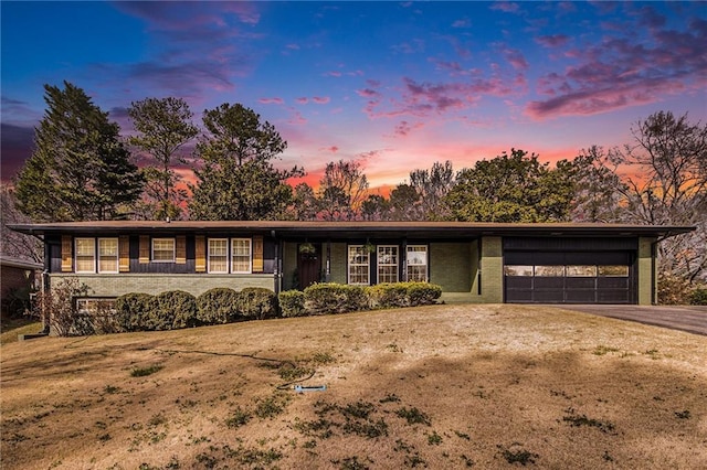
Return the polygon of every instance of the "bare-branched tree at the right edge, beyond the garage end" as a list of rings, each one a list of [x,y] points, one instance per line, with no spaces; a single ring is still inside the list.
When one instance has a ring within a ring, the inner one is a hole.
[[[707,279],[707,125],[658,111],[631,132],[634,142],[612,154],[627,173],[623,221],[696,226],[657,245],[659,270],[689,282]]]

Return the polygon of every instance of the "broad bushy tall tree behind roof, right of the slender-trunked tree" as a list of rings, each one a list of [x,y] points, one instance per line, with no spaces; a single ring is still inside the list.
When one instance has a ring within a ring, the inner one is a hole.
[[[303,170],[277,170],[271,163],[287,143],[267,121],[244,106],[223,104],[204,111],[207,136],[197,145],[198,183],[190,185],[191,218],[279,218],[292,201],[286,180]]]

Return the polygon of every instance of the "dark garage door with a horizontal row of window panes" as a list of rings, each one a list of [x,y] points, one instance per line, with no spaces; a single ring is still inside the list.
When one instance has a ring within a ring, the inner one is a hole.
[[[511,303],[633,303],[630,252],[510,252],[504,260]]]

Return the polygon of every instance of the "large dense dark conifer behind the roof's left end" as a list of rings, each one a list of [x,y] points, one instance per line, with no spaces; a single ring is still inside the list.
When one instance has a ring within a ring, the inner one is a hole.
[[[119,140],[119,127],[83,89],[45,85],[48,109],[35,150],[17,179],[20,211],[35,222],[122,217],[143,178]]]

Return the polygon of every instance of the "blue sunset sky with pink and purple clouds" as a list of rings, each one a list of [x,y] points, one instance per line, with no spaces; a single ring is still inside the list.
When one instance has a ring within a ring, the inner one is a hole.
[[[414,169],[631,143],[659,110],[707,121],[707,2],[34,2],[1,15],[1,174],[32,153],[44,84],[130,103],[240,103],[316,185],[357,160],[386,192]]]

